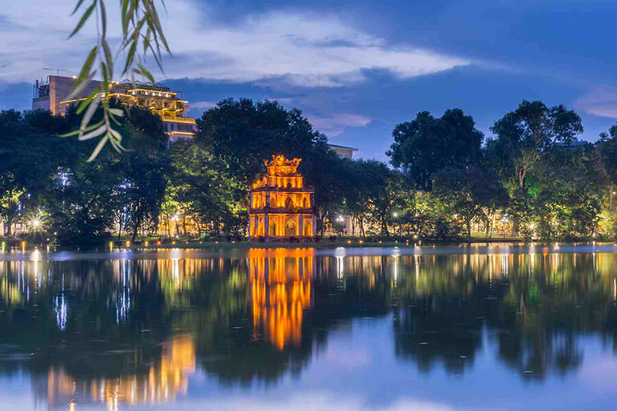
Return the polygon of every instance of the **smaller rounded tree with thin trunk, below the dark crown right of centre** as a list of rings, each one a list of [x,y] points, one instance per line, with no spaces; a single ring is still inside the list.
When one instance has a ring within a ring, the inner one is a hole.
[[[476,166],[437,172],[433,192],[452,214],[465,223],[468,238],[471,238],[474,219],[486,221],[486,209],[496,208],[507,201],[507,192],[497,176]]]

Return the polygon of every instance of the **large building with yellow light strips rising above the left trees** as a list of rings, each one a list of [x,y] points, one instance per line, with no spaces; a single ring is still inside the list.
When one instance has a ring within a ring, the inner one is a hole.
[[[82,90],[81,95],[74,99],[67,99],[75,84],[75,77],[63,77],[49,75],[47,80],[36,80],[32,97],[32,110],[50,110],[53,114],[64,115],[66,109],[73,103],[85,99],[90,93],[101,85],[96,80],[90,81]],[[188,101],[182,99],[181,91],[171,90],[161,84],[143,82],[112,82],[109,97],[115,97],[124,105],[132,107],[136,105],[146,108],[160,119],[167,128],[167,134],[171,141],[182,138],[193,138],[195,135],[195,119],[189,118]]]

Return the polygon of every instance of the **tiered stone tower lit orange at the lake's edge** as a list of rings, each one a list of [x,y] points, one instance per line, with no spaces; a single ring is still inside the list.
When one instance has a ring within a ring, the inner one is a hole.
[[[305,188],[298,165],[273,155],[265,161],[267,175],[251,186],[249,233],[251,237],[312,237],[315,230],[313,197],[315,190]]]

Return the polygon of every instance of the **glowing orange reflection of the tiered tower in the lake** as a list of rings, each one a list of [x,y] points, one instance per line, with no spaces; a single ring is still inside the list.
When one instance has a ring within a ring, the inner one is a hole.
[[[313,254],[313,249],[249,250],[256,339],[278,349],[302,343],[302,314],[312,301]]]

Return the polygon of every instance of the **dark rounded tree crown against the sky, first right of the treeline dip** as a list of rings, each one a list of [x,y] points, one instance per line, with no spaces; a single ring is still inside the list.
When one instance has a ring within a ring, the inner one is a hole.
[[[402,167],[418,187],[431,190],[433,174],[445,167],[475,164],[481,160],[482,132],[463,110],[446,110],[436,119],[420,112],[415,120],[396,125],[394,143],[387,151],[390,162]]]

